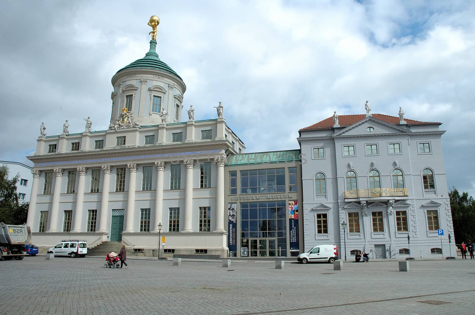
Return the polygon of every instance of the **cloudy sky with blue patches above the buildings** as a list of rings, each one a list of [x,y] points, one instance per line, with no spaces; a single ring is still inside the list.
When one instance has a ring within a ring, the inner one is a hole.
[[[148,51],[187,85],[195,117],[225,117],[247,152],[298,148],[298,129],[371,111],[442,122],[448,186],[475,194],[475,2],[4,1],[1,160],[29,163],[41,122],[105,130],[111,78]],[[184,116],[186,112],[183,111]],[[185,117],[183,117],[185,119]]]

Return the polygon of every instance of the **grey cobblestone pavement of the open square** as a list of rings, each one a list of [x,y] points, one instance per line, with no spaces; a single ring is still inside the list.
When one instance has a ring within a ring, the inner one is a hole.
[[[105,257],[0,261],[0,314],[474,314],[475,260],[343,264]],[[423,303],[425,302],[425,303]]]

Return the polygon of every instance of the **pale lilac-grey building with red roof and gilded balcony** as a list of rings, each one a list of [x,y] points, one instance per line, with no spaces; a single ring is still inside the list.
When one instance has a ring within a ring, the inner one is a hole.
[[[402,113],[335,115],[300,129],[305,250],[336,243],[344,258],[346,243],[349,259],[356,251],[408,258],[409,249],[412,257],[449,256],[440,125]],[[454,242],[451,250],[455,255]]]

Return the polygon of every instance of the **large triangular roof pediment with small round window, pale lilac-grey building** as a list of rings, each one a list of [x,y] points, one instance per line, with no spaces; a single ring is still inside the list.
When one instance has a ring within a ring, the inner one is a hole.
[[[368,132],[366,129],[372,127],[373,131]],[[366,135],[388,135],[388,134],[400,134],[400,133],[411,133],[410,130],[406,127],[396,126],[380,119],[374,118],[372,116],[366,117],[363,120],[360,120],[357,123],[354,123],[351,126],[348,126],[339,132],[335,133],[333,137],[338,136],[366,136]]]

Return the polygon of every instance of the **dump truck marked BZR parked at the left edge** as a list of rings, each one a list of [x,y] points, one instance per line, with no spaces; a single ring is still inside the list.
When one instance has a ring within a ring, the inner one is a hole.
[[[0,222],[0,261],[22,260],[27,254],[25,244],[31,244],[31,229],[27,225],[9,225]]]

